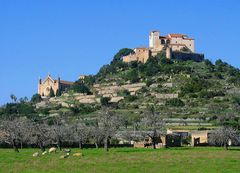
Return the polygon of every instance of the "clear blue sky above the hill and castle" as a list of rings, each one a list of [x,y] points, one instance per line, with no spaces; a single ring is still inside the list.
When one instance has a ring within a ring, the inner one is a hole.
[[[195,38],[196,51],[240,67],[239,0],[0,0],[0,105],[31,97],[38,77],[95,74],[151,30]]]

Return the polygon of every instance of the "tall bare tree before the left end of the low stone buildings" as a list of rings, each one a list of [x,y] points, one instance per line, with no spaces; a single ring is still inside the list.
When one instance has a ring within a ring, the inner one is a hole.
[[[152,141],[152,146],[156,149],[157,140],[161,134],[164,134],[165,123],[159,113],[155,111],[154,106],[149,106],[145,116],[141,120],[142,135],[149,137]]]

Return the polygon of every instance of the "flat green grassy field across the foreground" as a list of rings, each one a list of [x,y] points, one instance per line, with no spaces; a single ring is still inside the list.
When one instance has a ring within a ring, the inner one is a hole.
[[[134,149],[115,148],[108,153],[102,149],[73,149],[83,157],[70,156],[60,159],[62,153],[32,157],[37,149],[23,149],[15,153],[11,149],[0,149],[1,173],[75,173],[75,172],[177,172],[220,173],[239,172],[240,148],[171,148]]]

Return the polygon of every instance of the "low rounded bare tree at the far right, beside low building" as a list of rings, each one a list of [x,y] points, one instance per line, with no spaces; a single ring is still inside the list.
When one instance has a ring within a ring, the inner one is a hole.
[[[237,144],[239,141],[239,134],[232,127],[220,127],[209,136],[210,144],[224,146],[226,150],[229,145]]]

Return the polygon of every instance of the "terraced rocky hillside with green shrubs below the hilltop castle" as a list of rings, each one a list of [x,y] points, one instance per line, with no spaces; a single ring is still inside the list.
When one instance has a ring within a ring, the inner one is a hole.
[[[87,117],[107,97],[114,109],[129,116],[141,114],[148,105],[154,105],[166,119],[172,118],[169,122],[175,125],[184,123],[184,119],[192,125],[209,122],[213,125],[221,116],[240,116],[239,69],[221,60],[214,64],[209,60],[167,60],[164,53],[145,64],[123,63],[121,56],[130,52],[122,49],[98,74],[75,83],[75,88],[84,85],[90,92],[69,90],[38,103],[37,107],[52,111],[60,105],[60,110]]]

